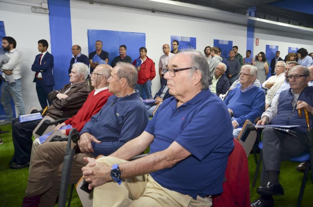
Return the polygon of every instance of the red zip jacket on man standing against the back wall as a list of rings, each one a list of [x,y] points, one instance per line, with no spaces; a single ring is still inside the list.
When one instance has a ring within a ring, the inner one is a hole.
[[[154,67],[153,60],[148,58],[148,56],[146,57],[147,59],[141,64],[140,71],[138,71],[138,84],[144,84],[148,80],[152,80],[154,77],[156,77],[156,69]],[[133,62],[133,65],[136,65],[136,61],[137,60]]]

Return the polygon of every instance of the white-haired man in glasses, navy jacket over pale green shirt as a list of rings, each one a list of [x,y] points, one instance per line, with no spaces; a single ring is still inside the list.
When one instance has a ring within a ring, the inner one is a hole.
[[[224,75],[227,66],[225,63],[218,63],[215,68],[214,75],[212,76],[211,92],[217,96],[225,94],[229,89],[229,80]]]

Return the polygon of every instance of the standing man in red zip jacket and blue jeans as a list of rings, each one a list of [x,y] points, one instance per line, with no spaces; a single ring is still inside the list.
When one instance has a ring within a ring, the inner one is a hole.
[[[156,69],[154,67],[153,60],[146,56],[147,48],[139,48],[140,57],[137,58],[133,65],[138,70],[138,80],[136,84],[136,89],[139,91],[139,95],[142,98],[142,92],[145,90],[146,97],[152,98],[151,95],[151,80],[156,76]],[[141,62],[141,63],[140,63]]]

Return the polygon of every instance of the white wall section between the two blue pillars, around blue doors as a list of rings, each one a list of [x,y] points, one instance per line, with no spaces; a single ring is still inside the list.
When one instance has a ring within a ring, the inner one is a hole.
[[[83,53],[88,51],[87,29],[146,33],[147,55],[156,63],[156,70],[163,55],[162,45],[171,44],[171,35],[196,37],[197,50],[202,52],[205,46],[213,47],[213,39],[233,40],[234,45],[239,45],[239,53],[246,51],[247,29],[244,26],[74,0],[71,1],[71,19],[73,44],[79,44]],[[105,40],[102,41],[105,50]],[[160,88],[159,80],[157,73],[152,80],[152,95]]]

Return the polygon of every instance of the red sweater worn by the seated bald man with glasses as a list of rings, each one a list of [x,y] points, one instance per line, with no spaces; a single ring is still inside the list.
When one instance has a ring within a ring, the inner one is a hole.
[[[113,93],[109,92],[109,89],[105,89],[95,95],[94,94],[95,90],[90,92],[86,102],[77,114],[64,121],[66,125],[70,124],[80,132],[83,129],[84,124],[88,122],[93,115],[97,114],[107,102],[108,98],[113,95]],[[69,135],[69,130],[70,129],[66,129],[66,135]]]

